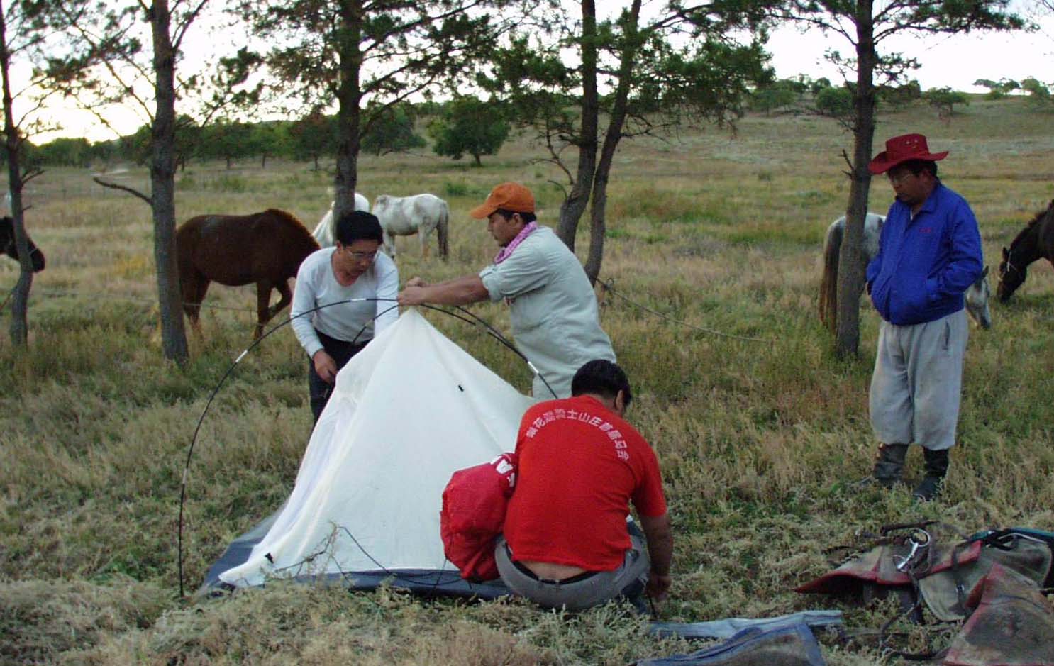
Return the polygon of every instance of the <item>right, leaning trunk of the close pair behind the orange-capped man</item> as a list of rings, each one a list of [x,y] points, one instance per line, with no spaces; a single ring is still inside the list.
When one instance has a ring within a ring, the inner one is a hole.
[[[607,183],[611,175],[611,164],[614,162],[614,152],[622,139],[622,128],[626,122],[626,105],[629,101],[630,80],[633,63],[639,47],[637,25],[641,15],[641,0],[633,0],[629,9],[629,21],[626,23],[625,40],[620,54],[619,84],[614,91],[614,103],[611,106],[611,118],[607,132],[604,134],[604,145],[601,149],[600,163],[597,164],[593,177],[592,207],[589,212],[589,256],[586,258],[586,275],[589,282],[596,283],[600,276],[601,263],[604,261],[604,235],[607,233],[605,213],[607,209]]]

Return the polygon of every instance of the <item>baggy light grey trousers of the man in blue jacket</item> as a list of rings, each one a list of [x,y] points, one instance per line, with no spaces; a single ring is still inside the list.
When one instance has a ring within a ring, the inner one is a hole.
[[[967,351],[965,310],[935,321],[882,321],[871,377],[871,426],[882,444],[955,444]]]

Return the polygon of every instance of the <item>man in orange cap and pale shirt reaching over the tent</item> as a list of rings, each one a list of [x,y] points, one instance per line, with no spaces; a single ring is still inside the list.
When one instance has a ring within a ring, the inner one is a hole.
[[[583,364],[616,360],[585,270],[551,229],[539,226],[534,195],[518,182],[496,185],[469,214],[487,220],[501,247],[494,262],[479,274],[435,285],[415,277],[399,292],[399,305],[504,299],[516,347],[536,371],[534,397],[569,397],[571,378]]]

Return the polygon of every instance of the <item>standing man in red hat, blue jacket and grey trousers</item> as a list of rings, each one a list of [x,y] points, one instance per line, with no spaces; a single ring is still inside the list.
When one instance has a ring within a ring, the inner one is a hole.
[[[867,292],[882,316],[871,423],[880,446],[873,478],[900,481],[910,444],[922,446],[925,476],[918,501],[933,500],[948,472],[955,444],[967,349],[963,293],[984,265],[970,204],[937,178],[937,161],[921,134],[885,142],[867,165],[885,173],[896,200],[867,265]]]

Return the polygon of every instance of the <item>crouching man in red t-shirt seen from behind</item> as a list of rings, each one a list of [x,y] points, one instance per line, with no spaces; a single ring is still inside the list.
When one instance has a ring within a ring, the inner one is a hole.
[[[569,610],[642,587],[666,596],[674,537],[655,452],[622,419],[630,398],[619,366],[590,360],[574,374],[570,398],[524,414],[515,490],[494,552],[516,594]],[[630,502],[646,550],[627,526]]]

